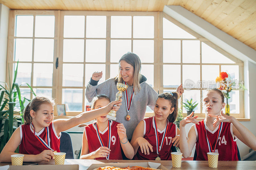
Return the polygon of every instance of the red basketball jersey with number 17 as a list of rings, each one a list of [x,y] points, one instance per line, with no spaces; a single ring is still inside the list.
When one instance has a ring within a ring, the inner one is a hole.
[[[149,151],[149,155],[145,155],[141,152],[140,148],[138,149],[136,155],[134,156],[135,160],[155,160],[157,157],[156,153],[156,135],[155,135],[155,125],[153,123],[154,117],[144,119],[144,138],[153,146],[153,152]],[[161,145],[162,138],[164,135],[164,130],[160,131],[157,129],[159,146]],[[168,128],[166,130],[166,137],[163,142],[163,147],[159,152],[159,157],[161,160],[172,160],[171,147],[172,147],[172,138],[177,136],[177,125],[169,122]]]

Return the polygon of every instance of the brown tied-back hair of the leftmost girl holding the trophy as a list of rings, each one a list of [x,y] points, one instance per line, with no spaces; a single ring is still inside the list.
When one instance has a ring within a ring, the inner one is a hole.
[[[49,97],[36,96],[31,102],[28,103],[27,107],[23,111],[24,124],[29,124],[32,122],[30,110],[34,110],[34,112],[37,112],[42,104],[51,104],[52,106],[54,106],[55,102],[52,98]]]

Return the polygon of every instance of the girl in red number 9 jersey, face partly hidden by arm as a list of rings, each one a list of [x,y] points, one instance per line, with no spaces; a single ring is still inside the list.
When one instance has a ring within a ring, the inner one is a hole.
[[[108,96],[100,94],[92,99],[91,108],[98,109],[109,103]],[[113,122],[106,116],[100,116],[97,121],[84,127],[80,159],[123,159],[121,147],[127,158],[133,158],[133,148],[126,137],[123,123]]]

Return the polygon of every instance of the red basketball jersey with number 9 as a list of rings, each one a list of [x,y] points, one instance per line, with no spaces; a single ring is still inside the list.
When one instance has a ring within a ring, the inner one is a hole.
[[[122,153],[121,153],[120,140],[117,134],[117,128],[116,128],[117,124],[118,122],[114,122],[110,120],[109,125],[111,126],[111,139],[110,139],[111,151],[109,154],[109,159],[123,159]],[[89,147],[90,153],[96,151],[99,147],[101,147],[99,138],[97,136],[96,122],[93,122],[92,124],[85,126],[84,132],[85,132],[85,137],[88,141],[88,147]],[[104,143],[104,146],[108,147],[108,127],[103,132],[100,131],[100,136]],[[102,157],[102,158],[96,158],[96,159],[106,159],[106,158]]]

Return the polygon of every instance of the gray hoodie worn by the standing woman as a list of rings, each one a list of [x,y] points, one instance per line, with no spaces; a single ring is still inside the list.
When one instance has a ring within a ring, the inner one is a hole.
[[[126,110],[126,101],[124,92],[122,92],[122,106],[116,112],[116,122],[123,123],[126,129],[127,138],[132,139],[132,134],[138,123],[144,119],[146,107],[149,106],[154,110],[156,104],[156,98],[158,96],[157,92],[148,85],[145,81],[147,79],[143,76],[140,81],[140,92],[137,92],[134,95],[132,100],[132,106],[129,111],[129,115],[131,116],[130,121],[126,120],[127,110]],[[87,84],[85,90],[85,96],[89,102],[92,101],[92,98],[97,94],[105,94],[110,98],[110,101],[116,100],[116,93],[118,92],[116,88],[116,83],[114,78],[109,78],[105,82],[97,85],[98,81],[91,81]],[[132,95],[133,85],[127,88],[127,98],[128,105],[130,103],[131,95]]]

